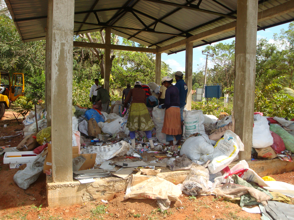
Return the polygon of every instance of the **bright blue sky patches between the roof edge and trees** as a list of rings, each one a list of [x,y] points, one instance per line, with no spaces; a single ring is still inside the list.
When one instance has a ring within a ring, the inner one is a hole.
[[[289,23],[282,24],[273,28],[265,29],[265,31],[257,32],[257,40],[260,38],[266,38],[270,43],[274,43],[273,34],[280,33],[280,30],[284,28],[288,30]],[[235,38],[222,40],[217,43],[213,43],[211,45],[216,45],[220,42],[222,43],[231,43]],[[206,46],[201,46],[198,48],[193,48],[193,72],[197,72],[205,67],[206,56],[202,55],[202,50],[205,49]],[[185,51],[167,55],[166,53],[161,54],[161,60],[169,64],[172,69],[172,72],[175,71],[185,71]],[[208,61],[208,68],[213,67],[213,64]]]

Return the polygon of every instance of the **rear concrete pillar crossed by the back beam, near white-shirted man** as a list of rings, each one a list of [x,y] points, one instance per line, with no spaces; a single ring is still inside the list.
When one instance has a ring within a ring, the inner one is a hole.
[[[105,44],[111,44],[111,28],[105,29]],[[110,49],[105,49],[104,52],[104,89],[109,92],[109,79],[110,79]]]

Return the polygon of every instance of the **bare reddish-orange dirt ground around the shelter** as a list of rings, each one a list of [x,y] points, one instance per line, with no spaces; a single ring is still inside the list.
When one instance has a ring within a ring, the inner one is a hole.
[[[0,121],[1,125],[1,121]],[[15,134],[15,129],[23,129],[23,124],[10,122],[7,128],[0,127],[0,137]],[[8,141],[0,141],[0,146],[10,144],[17,146],[22,136]],[[8,143],[6,143],[8,142]],[[47,206],[46,176],[41,174],[28,189],[19,188],[13,181],[14,174],[19,169],[9,169],[0,157],[0,220],[2,219],[179,219],[179,220],[255,220],[260,214],[250,214],[243,211],[238,204],[218,201],[214,196],[199,196],[190,199],[183,194],[181,202],[172,202],[171,209],[161,213],[156,200],[128,199],[123,200],[124,192],[117,193],[115,198],[104,204],[101,201],[86,202],[82,205],[51,208]],[[271,175],[275,180],[294,184],[294,172]],[[105,208],[99,214],[98,209]],[[130,211],[135,210],[134,214]]]

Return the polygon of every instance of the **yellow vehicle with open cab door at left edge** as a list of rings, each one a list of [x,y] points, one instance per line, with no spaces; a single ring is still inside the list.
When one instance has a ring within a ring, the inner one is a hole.
[[[10,103],[24,95],[24,74],[14,73],[11,80],[8,72],[0,71],[0,119]]]

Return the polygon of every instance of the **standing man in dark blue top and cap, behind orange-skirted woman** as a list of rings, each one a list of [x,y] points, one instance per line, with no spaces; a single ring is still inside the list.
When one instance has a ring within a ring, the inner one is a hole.
[[[176,87],[180,93],[180,111],[181,111],[181,128],[182,128],[182,136],[183,136],[183,128],[184,128],[184,117],[183,112],[186,105],[186,97],[188,93],[188,86],[183,80],[183,73],[181,71],[177,71],[175,73],[175,79],[177,81]]]

